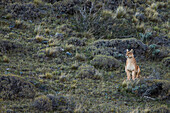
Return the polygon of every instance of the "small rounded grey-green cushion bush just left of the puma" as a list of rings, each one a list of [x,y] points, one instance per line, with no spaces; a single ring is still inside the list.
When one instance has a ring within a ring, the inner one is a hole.
[[[105,70],[113,70],[120,67],[120,62],[116,58],[105,55],[95,56],[91,61],[91,64],[96,68],[101,68]]]

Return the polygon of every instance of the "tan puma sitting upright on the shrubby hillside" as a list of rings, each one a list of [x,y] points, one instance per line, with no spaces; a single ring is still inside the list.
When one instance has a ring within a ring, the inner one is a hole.
[[[131,75],[132,75],[132,80],[135,80],[135,78],[140,77],[139,76],[140,68],[136,64],[136,59],[134,58],[133,55],[133,49],[131,49],[130,51],[127,50],[126,56],[127,56],[127,60],[126,60],[125,71],[127,74],[127,80],[131,79]]]

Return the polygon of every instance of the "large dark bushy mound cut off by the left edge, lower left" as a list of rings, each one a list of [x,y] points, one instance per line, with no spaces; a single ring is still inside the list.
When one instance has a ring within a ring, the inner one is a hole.
[[[0,98],[34,98],[34,86],[16,75],[0,75]]]

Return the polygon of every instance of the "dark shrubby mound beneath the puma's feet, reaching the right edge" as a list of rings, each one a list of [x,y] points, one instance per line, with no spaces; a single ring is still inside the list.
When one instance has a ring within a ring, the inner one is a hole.
[[[155,100],[166,99],[169,97],[169,86],[170,82],[167,80],[156,80],[156,79],[136,79],[124,80],[122,83],[121,91],[134,93],[138,96],[146,99]]]

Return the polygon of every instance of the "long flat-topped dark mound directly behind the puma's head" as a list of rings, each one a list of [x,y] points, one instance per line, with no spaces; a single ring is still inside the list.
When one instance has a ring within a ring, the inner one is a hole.
[[[134,49],[135,56],[145,56],[148,46],[135,38],[129,39],[113,39],[113,40],[97,40],[93,43],[95,49],[94,55],[107,55],[116,58],[125,59],[126,49]],[[126,49],[125,49],[126,48]]]

